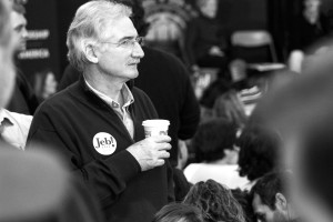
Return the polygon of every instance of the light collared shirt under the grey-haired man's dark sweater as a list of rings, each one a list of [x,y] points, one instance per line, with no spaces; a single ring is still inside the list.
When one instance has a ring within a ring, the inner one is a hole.
[[[130,104],[132,104],[134,102],[134,98],[133,98],[132,92],[128,88],[128,85],[123,84],[123,87],[121,89],[120,93],[123,98],[124,103],[122,107],[120,107],[120,104],[118,102],[115,102],[114,100],[112,100],[110,97],[93,89],[85,79],[84,79],[84,81],[85,81],[85,84],[88,85],[88,88],[92,92],[94,92],[99,98],[101,98],[103,101],[105,101],[111,107],[112,110],[114,110],[114,112],[118,114],[118,117],[121,119],[121,121],[128,129],[131,138],[133,139],[134,138],[134,123],[133,123],[133,120],[129,112],[129,107],[130,107]]]

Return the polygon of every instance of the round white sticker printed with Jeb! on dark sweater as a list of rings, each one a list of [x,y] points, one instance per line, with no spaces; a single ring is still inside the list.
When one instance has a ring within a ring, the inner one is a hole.
[[[92,144],[95,151],[102,155],[111,155],[117,149],[115,139],[107,132],[97,133],[93,137]]]

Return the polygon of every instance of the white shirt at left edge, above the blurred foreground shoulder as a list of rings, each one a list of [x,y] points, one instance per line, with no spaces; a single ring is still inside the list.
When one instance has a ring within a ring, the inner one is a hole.
[[[24,150],[32,115],[0,109],[1,139],[9,144]]]

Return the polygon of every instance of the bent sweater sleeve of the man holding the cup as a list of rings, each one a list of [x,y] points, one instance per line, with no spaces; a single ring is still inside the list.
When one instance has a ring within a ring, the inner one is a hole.
[[[26,150],[28,152],[36,150],[41,144],[43,144],[43,150],[60,154],[64,164],[93,191],[103,206],[112,204],[125,190],[129,180],[141,172],[139,163],[127,150],[104,160],[92,160],[87,164],[79,164],[78,153],[72,152],[69,149],[70,142],[64,143],[60,133],[52,129],[47,112],[36,114]]]

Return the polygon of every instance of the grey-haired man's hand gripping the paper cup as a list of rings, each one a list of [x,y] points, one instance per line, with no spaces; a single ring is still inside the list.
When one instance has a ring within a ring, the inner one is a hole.
[[[150,137],[134,143],[127,150],[137,159],[142,171],[164,164],[164,160],[170,158],[168,150],[171,149],[171,138],[168,135]]]

